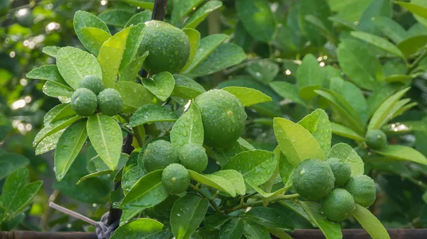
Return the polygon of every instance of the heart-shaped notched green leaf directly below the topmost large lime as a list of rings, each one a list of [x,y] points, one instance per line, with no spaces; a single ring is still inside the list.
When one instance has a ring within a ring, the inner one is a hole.
[[[160,72],[151,78],[141,79],[142,84],[157,98],[166,101],[172,94],[175,86],[175,79],[169,72]]]

